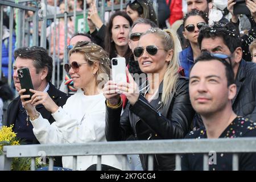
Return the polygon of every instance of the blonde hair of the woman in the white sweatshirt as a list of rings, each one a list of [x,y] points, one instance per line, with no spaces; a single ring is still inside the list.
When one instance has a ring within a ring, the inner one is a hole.
[[[72,53],[81,53],[84,55],[85,61],[87,61],[90,66],[93,66],[94,63],[98,63],[98,71],[96,72],[97,85],[99,85],[101,81],[104,81],[105,84],[109,80],[110,59],[108,53],[100,46],[88,41],[77,42],[68,52],[69,57]]]

